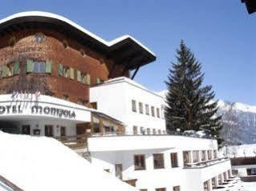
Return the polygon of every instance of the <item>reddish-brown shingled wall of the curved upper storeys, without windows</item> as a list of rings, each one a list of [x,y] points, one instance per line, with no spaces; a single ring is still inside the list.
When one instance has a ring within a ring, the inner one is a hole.
[[[45,40],[42,43],[35,42],[35,34],[42,33]],[[10,46],[10,39],[15,38],[16,43]],[[11,93],[14,90],[36,91],[42,94],[62,97],[69,96],[69,100],[77,102],[80,99],[89,101],[89,86],[84,85],[70,78],[63,78],[58,75],[58,65],[69,66],[91,75],[91,84],[96,83],[96,78],[108,80],[108,69],[114,64],[96,54],[87,47],[79,45],[70,37],[55,30],[37,29],[20,30],[16,34],[6,35],[0,38],[0,69],[3,64],[20,62],[20,73],[17,76],[0,80],[0,94]],[[63,46],[67,41],[68,47]],[[84,51],[84,55],[80,53]],[[51,74],[26,74],[25,64],[28,58],[39,61],[51,61]],[[104,60],[106,67],[100,60]],[[120,75],[123,66],[116,66],[113,75]],[[124,74],[128,75],[128,74]]]

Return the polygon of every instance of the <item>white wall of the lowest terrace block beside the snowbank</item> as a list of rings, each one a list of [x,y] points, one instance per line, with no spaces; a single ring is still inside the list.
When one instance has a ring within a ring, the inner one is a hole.
[[[122,164],[123,180],[137,179],[136,188],[148,191],[155,191],[156,188],[173,191],[173,186],[177,185],[181,186],[181,191],[202,191],[204,181],[217,177],[231,168],[230,160],[201,168],[184,167],[183,151],[206,149],[217,149],[217,141],[169,135],[88,138],[92,165],[109,169],[112,176],[115,176],[115,164]],[[165,169],[154,169],[153,153],[164,154]],[[177,153],[176,168],[171,165],[170,153]],[[135,154],[145,155],[146,169],[134,169]]]

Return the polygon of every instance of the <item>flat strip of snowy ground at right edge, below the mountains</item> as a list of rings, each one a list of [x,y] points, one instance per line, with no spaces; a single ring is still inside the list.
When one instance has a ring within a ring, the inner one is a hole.
[[[223,147],[220,153],[228,153],[228,157],[255,157],[256,144],[249,145],[234,145]],[[256,189],[255,189],[256,190]]]

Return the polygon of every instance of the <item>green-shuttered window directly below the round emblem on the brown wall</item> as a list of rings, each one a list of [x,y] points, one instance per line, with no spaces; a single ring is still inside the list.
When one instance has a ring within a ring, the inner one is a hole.
[[[50,61],[26,61],[26,73],[47,73],[51,74]]]

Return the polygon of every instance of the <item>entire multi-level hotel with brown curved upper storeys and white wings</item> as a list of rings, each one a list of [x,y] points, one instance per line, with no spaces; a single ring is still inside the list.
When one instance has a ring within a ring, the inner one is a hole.
[[[156,60],[135,38],[24,12],[0,20],[0,39],[3,131],[55,137],[141,191],[240,189],[216,140],[166,133],[163,97],[132,80]]]

